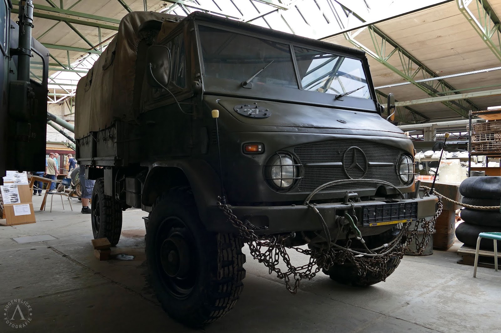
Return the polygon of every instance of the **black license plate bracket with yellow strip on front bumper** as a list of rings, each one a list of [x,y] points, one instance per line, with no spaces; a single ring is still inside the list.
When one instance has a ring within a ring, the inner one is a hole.
[[[362,216],[364,226],[405,223],[417,219],[417,202],[366,205]]]

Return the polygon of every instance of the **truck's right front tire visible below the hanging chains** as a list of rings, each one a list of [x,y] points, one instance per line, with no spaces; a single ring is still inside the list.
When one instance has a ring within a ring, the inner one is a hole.
[[[393,273],[399,264],[400,257],[392,256],[388,262],[386,262],[386,276],[388,277]],[[353,263],[347,261],[344,264],[336,264],[331,266],[329,270],[323,269],[322,271],[336,282],[355,286],[369,286],[383,280],[372,272],[367,272],[366,275],[359,275],[357,267]]]

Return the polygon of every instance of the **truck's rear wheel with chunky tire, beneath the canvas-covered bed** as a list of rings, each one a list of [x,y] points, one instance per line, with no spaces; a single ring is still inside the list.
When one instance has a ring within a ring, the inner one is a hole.
[[[94,239],[108,238],[116,245],[122,232],[122,207],[114,197],[104,194],[104,179],[98,178],[92,190],[92,233]]]

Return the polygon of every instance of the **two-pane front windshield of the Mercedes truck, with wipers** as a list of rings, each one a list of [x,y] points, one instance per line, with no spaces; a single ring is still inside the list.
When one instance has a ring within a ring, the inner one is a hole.
[[[371,97],[360,59],[205,25],[199,25],[199,34],[205,76],[336,95],[360,88],[349,96]]]

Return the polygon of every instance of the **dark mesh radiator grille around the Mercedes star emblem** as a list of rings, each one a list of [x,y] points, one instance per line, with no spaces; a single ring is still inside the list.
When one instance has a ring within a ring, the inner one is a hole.
[[[391,162],[392,165],[370,165],[363,179],[379,179],[394,185],[400,185],[395,163],[400,151],[394,147],[367,141],[329,141],[300,145],[294,148],[304,167],[304,175],[299,183],[300,191],[312,191],[326,182],[338,179],[348,179],[342,165],[305,165],[308,163],[336,163],[343,162],[346,149],[356,146],[365,153],[368,162]],[[357,161],[363,162],[363,157]],[[347,161],[345,161],[346,163]],[[362,174],[362,173],[361,173]],[[355,177],[354,177],[355,178]],[[374,188],[374,184],[360,182],[354,184],[334,185],[329,190],[336,189],[364,189]]]

